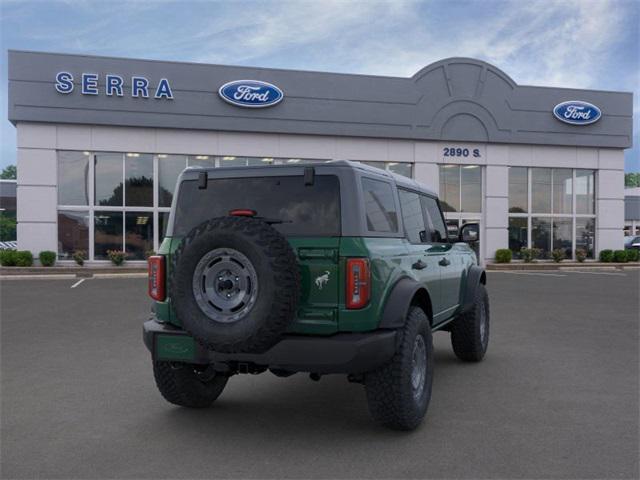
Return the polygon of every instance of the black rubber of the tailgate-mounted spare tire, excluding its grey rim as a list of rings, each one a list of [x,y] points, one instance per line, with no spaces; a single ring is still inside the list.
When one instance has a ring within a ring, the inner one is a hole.
[[[250,312],[230,323],[205,315],[192,288],[200,259],[225,247],[251,261],[259,285]],[[280,340],[295,317],[300,272],[289,242],[273,227],[254,218],[219,217],[198,225],[182,240],[173,255],[169,285],[177,317],[201,345],[217,352],[260,353]]]

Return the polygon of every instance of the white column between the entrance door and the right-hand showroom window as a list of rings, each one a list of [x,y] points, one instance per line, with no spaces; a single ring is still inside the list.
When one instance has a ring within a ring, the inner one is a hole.
[[[483,205],[485,261],[492,261],[496,250],[509,248],[509,167],[487,165]]]

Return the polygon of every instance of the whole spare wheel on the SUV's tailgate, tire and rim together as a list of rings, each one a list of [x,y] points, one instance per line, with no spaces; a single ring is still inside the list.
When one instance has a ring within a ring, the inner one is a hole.
[[[248,217],[214,218],[191,230],[173,255],[169,284],[184,329],[225,353],[258,353],[277,343],[300,296],[289,242]]]

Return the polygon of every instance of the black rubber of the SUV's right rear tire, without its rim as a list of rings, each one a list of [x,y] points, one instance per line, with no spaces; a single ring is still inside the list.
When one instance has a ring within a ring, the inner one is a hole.
[[[369,412],[375,421],[395,430],[413,430],[424,418],[431,400],[433,381],[433,341],[431,326],[424,311],[409,309],[398,350],[385,366],[365,375]],[[422,393],[414,395],[412,386],[413,354],[416,337],[424,341],[426,372]]]

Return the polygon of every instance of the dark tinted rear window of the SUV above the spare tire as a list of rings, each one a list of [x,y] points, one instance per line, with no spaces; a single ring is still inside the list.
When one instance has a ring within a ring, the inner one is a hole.
[[[184,236],[234,209],[281,220],[272,226],[283,235],[340,235],[340,184],[335,175],[316,175],[313,185],[305,185],[302,176],[217,178],[202,190],[196,180],[186,180],[180,185],[173,235]]]

